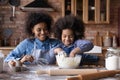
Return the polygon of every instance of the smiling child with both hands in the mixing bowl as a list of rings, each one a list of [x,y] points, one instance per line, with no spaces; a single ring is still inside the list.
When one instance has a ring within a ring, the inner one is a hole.
[[[93,48],[92,42],[84,39],[84,31],[84,23],[75,16],[68,15],[58,19],[54,25],[54,33],[62,43],[54,49],[54,52],[58,54],[65,51],[70,57],[82,55],[82,62],[98,61],[97,56],[83,54]]]

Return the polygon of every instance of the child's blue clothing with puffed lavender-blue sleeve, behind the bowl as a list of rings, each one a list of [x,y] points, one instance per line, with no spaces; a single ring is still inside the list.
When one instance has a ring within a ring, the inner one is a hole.
[[[59,44],[57,48],[62,48],[66,53],[67,56],[69,56],[70,52],[76,48],[79,47],[81,50],[81,53],[78,55],[82,55],[82,62],[96,62],[98,61],[98,57],[95,55],[90,55],[90,54],[83,54],[86,51],[89,51],[93,48],[93,43],[90,42],[89,40],[82,40],[79,39],[75,41],[73,44],[70,46],[65,46],[63,43]]]

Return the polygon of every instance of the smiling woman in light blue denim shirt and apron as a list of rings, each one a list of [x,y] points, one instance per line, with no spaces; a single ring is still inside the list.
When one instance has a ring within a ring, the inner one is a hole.
[[[52,48],[59,44],[56,39],[48,37],[51,30],[52,17],[46,13],[31,13],[26,22],[26,31],[29,38],[23,40],[9,55],[5,62],[15,65],[14,60],[19,60],[21,64],[55,63],[55,55]]]

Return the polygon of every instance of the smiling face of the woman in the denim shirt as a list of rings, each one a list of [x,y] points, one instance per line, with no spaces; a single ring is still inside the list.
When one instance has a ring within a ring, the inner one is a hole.
[[[49,33],[47,25],[44,22],[36,24],[33,27],[32,32],[35,34],[35,37],[41,41],[44,41]]]

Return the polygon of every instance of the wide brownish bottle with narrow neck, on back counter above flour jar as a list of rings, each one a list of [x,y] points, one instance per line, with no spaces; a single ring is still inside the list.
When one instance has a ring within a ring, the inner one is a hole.
[[[112,46],[112,39],[110,36],[110,32],[107,31],[104,37],[104,47],[111,47]]]

